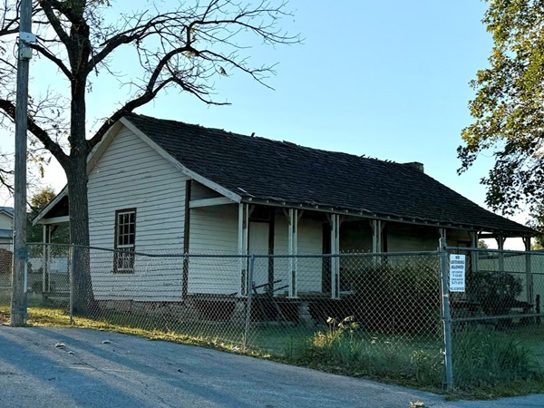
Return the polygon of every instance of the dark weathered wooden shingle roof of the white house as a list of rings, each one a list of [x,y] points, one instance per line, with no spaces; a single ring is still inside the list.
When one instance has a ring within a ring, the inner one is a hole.
[[[137,114],[126,119],[180,164],[243,200],[505,235],[534,234],[531,228],[482,209],[412,165]]]

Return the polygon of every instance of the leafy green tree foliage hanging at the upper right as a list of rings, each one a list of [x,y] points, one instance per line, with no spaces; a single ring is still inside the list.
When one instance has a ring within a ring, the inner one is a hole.
[[[512,214],[544,198],[544,1],[490,1],[483,23],[494,45],[471,82],[474,121],[462,131],[460,172],[492,151],[486,203]]]

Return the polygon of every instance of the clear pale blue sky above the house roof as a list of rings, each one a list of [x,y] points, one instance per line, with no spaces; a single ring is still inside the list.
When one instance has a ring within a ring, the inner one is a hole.
[[[116,12],[117,5],[112,7]],[[278,63],[268,81],[275,91],[233,73],[216,82],[217,100],[231,106],[209,107],[170,92],[136,112],[319,149],[421,161],[433,178],[483,205],[480,179],[492,158],[481,157],[458,176],[456,148],[461,129],[471,122],[469,81],[487,66],[491,52],[491,35],[481,24],[487,3],[291,0],[289,7],[294,17],[283,25],[299,32],[303,44],[257,44],[251,51],[257,64]],[[131,63],[124,58],[122,63]],[[38,76],[57,75],[44,68],[36,75],[38,62],[33,63],[31,86]],[[63,85],[53,80],[53,86]],[[123,93],[114,82],[94,84],[88,97],[91,130]],[[57,190],[63,186],[54,167],[45,182]]]

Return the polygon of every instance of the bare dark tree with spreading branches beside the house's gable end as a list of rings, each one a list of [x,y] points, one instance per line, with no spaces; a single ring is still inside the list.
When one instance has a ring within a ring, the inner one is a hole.
[[[18,31],[13,3],[4,0],[0,8],[0,112],[12,120],[15,57],[9,50]],[[215,99],[213,79],[233,71],[266,86],[273,65],[249,63],[250,42],[256,38],[265,45],[299,42],[297,35],[287,34],[279,25],[289,15],[282,0],[194,0],[170,10],[160,6],[116,15],[109,22],[105,12],[114,5],[108,0],[34,2],[38,41],[32,48],[58,69],[69,92],[52,92],[40,101],[31,95],[28,129],[66,173],[70,234],[75,245],[89,245],[87,156],[115,121],[168,89],[189,93],[201,102],[223,104]],[[92,81],[125,77],[122,66],[112,66],[113,56],[123,48],[130,48],[136,56],[131,68],[139,69],[125,81],[132,92],[97,131],[87,135],[87,93]],[[70,108],[63,110],[63,106]],[[74,255],[74,267],[80,265],[74,270],[79,299],[75,308],[80,313],[92,302],[89,270],[82,267],[86,263],[82,254],[79,258]]]

